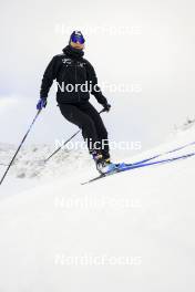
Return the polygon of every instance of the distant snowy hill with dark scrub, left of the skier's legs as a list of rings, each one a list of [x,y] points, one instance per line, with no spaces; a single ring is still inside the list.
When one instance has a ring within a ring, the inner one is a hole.
[[[47,164],[44,159],[55,150],[49,145],[30,145],[23,146],[10,168],[8,178],[4,180],[1,190],[4,196],[31,188],[42,181],[59,177],[60,174],[72,175],[73,170],[80,171],[91,166],[92,161],[84,150],[60,150]],[[3,174],[8,163],[16,152],[14,145],[0,144],[0,175]],[[10,184],[14,189],[10,188]]]

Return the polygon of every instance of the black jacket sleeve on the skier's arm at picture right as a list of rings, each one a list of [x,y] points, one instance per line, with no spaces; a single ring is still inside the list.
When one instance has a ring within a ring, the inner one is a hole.
[[[100,88],[100,86],[98,85],[98,77],[96,77],[96,73],[94,71],[94,67],[92,66],[92,64],[86,61],[86,73],[88,73],[88,82],[91,82],[92,85],[92,90],[91,90],[91,94],[93,94],[96,98],[96,101],[100,104],[106,104],[107,100],[105,98],[105,96],[103,96],[102,91]]]

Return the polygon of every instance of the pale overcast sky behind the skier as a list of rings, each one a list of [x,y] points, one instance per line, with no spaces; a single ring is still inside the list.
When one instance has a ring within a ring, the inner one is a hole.
[[[112,111],[103,118],[112,139],[161,143],[174,124],[195,117],[195,2],[3,1],[0,9],[0,142],[18,144],[35,115],[42,74],[70,33],[85,36],[85,58]],[[50,92],[28,142],[54,143],[74,133]],[[101,108],[91,97],[93,104]]]

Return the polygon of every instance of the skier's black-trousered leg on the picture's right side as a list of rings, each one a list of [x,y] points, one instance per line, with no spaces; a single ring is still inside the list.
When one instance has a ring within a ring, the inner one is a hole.
[[[101,153],[104,159],[110,158],[110,147],[109,147],[109,138],[107,138],[107,131],[104,126],[104,123],[101,118],[99,112],[94,108],[91,103],[85,103],[80,106],[80,108],[90,116],[95,125],[96,133],[98,133],[98,142],[101,147]]]

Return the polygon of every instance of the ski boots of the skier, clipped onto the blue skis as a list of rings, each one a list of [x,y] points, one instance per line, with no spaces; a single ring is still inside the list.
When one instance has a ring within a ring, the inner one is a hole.
[[[92,156],[96,164],[96,169],[101,175],[112,173],[116,169],[115,164],[112,164],[110,158],[104,159],[102,154],[92,153]]]

